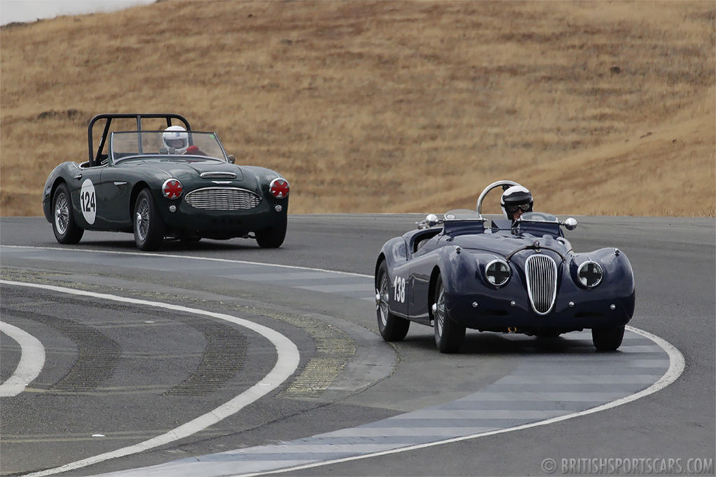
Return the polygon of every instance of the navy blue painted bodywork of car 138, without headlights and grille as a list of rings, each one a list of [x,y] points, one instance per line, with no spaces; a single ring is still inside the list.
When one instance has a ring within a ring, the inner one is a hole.
[[[465,328],[556,335],[584,328],[619,328],[629,322],[634,314],[634,273],[627,255],[611,247],[575,253],[556,217],[539,213],[532,217],[512,227],[511,221],[493,220],[490,225],[476,215],[475,220],[447,220],[442,226],[412,230],[386,242],[375,270],[378,275],[381,263],[386,263],[390,313],[431,325],[440,274],[450,319]],[[536,313],[528,297],[525,262],[535,254],[547,255],[557,265],[556,300],[545,315]],[[485,277],[485,266],[498,258],[511,269],[502,287],[491,285]],[[603,270],[601,283],[591,289],[577,277],[585,260],[598,262]],[[402,280],[405,290],[396,292],[396,281]]]

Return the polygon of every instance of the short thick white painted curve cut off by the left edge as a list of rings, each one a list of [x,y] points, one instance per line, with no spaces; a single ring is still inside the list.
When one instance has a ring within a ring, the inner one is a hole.
[[[10,323],[0,322],[0,332],[20,345],[20,361],[15,372],[0,385],[0,397],[16,396],[37,378],[44,366],[44,346],[40,340]]]

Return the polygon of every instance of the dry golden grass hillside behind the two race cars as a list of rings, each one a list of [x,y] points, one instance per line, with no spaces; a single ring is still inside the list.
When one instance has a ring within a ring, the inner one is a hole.
[[[715,215],[714,1],[158,1],[0,31],[0,213],[100,112],[178,112],[294,213]],[[496,200],[495,200],[496,202]],[[497,210],[485,210],[497,212]]]

